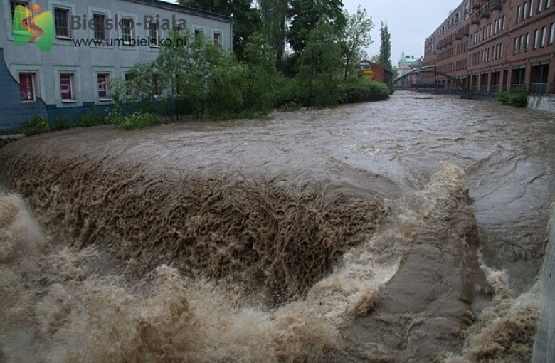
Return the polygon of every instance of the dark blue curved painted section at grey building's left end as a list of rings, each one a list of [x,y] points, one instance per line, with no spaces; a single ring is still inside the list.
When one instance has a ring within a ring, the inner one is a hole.
[[[0,48],[0,58],[0,130],[21,127],[34,115],[48,119],[46,105],[40,98],[36,102],[21,102],[19,83],[6,66],[3,48]]]

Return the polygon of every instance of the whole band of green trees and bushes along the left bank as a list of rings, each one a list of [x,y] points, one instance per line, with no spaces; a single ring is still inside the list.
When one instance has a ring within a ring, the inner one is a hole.
[[[386,85],[359,77],[358,63],[366,58],[374,27],[365,9],[348,14],[342,0],[260,0],[259,7],[250,0],[178,2],[233,14],[233,53],[211,38],[174,29],[166,36],[174,46],[162,45],[156,60],[135,65],[125,80],[110,80],[115,103],[110,113],[93,107],[76,120],[63,115],[53,130],[105,124],[129,130],[163,119],[179,122],[185,115],[262,117],[272,110],[386,100],[390,94]],[[391,41],[383,24],[381,35],[389,58]],[[295,50],[289,57],[287,42]],[[48,122],[33,117],[21,131],[46,130]]]

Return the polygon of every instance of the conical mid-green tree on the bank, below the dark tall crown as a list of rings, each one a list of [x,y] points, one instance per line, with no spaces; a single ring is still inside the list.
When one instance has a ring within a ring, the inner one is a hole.
[[[298,94],[307,108],[337,105],[338,75],[343,67],[342,49],[327,19],[322,18],[308,33],[297,67]]]

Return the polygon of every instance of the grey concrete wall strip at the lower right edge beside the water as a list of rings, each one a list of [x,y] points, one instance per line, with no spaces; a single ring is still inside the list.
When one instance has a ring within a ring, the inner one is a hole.
[[[533,363],[555,362],[555,208],[551,214],[551,233],[541,278],[544,313],[536,334]]]

